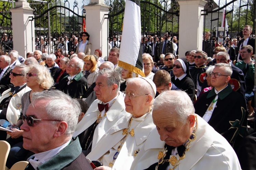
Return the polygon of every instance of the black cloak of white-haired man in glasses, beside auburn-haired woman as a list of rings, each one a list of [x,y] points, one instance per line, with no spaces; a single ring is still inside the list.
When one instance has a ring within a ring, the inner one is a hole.
[[[82,72],[78,73],[69,85],[68,81],[68,76],[66,76],[56,86],[56,89],[63,91],[72,98],[81,99],[88,88],[87,80],[83,77]]]

